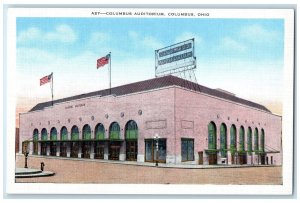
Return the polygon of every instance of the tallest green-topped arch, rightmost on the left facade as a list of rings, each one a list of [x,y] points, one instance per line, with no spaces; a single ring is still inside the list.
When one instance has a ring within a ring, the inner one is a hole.
[[[126,160],[136,161],[138,153],[138,127],[135,121],[128,121],[125,126]]]

